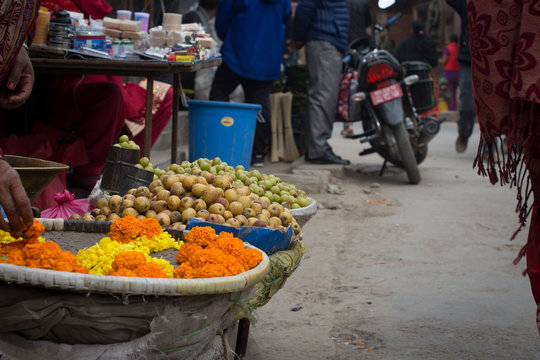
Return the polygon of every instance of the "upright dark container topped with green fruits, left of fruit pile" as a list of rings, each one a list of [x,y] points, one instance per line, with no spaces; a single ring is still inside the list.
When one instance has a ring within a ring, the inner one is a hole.
[[[140,151],[111,146],[103,168],[101,188],[118,193],[122,189],[128,171],[140,160]]]

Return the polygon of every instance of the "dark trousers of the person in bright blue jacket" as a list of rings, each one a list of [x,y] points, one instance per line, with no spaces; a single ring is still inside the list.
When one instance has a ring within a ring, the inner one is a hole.
[[[210,100],[229,101],[229,95],[239,84],[242,85],[242,89],[244,90],[246,103],[262,106],[262,116],[265,122],[260,123],[257,121],[251,156],[264,155],[266,153],[266,147],[270,145],[271,139],[270,93],[272,92],[273,81],[247,79],[233,72],[223,62],[218,67],[214,76],[214,82],[210,90]]]

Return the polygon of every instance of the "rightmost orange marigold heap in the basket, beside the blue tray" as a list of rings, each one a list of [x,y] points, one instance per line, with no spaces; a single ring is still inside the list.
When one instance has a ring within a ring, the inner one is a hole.
[[[176,278],[211,278],[232,276],[257,266],[262,254],[246,249],[244,242],[231,233],[216,236],[210,226],[196,226],[184,238],[185,244],[176,255],[180,264],[174,270]]]

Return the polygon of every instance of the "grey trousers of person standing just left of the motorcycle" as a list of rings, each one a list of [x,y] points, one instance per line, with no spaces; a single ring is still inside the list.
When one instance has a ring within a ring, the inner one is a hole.
[[[309,160],[333,154],[328,139],[337,105],[341,54],[326,41],[309,41],[306,63],[309,85],[305,141]]]

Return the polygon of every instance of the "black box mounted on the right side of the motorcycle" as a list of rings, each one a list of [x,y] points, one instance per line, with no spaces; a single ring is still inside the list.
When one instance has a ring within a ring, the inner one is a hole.
[[[431,78],[431,66],[421,61],[402,63],[405,76],[418,75],[420,78],[410,86],[413,105],[418,113],[431,110],[437,105],[435,98],[435,82]]]

